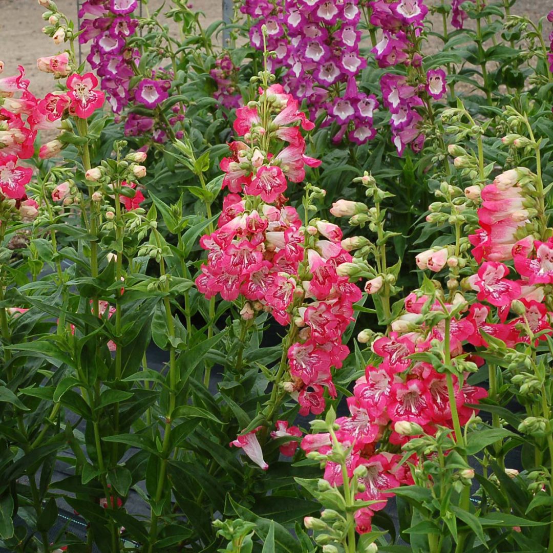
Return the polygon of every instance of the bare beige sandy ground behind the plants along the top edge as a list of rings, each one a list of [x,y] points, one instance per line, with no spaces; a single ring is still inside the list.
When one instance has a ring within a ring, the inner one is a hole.
[[[222,18],[222,0],[192,2],[194,9],[206,14],[205,25]],[[76,0],[56,0],[56,3],[76,20]],[[162,0],[149,0],[148,7],[154,11],[162,3]],[[551,9],[551,3],[552,0],[518,0],[513,13],[528,15],[537,21]],[[170,6],[170,0],[166,0],[165,4]],[[50,75],[36,69],[36,59],[58,52],[52,40],[41,33],[44,21],[40,16],[43,11],[36,0],[0,0],[0,60],[6,64],[4,75],[14,74],[19,64],[25,66],[32,82],[30,90],[35,95],[44,95],[54,86]]]

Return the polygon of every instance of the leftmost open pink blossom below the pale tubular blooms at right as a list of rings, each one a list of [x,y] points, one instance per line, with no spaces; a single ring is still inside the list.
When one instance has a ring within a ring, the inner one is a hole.
[[[496,307],[506,305],[520,295],[520,284],[505,279],[509,268],[503,263],[488,261],[481,265],[476,275],[469,278],[474,290],[478,290],[477,299],[486,300]]]

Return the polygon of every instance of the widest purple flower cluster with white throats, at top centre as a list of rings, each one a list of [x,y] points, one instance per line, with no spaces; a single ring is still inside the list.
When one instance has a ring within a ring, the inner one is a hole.
[[[358,0],[286,0],[284,6],[276,6],[267,0],[246,0],[241,7],[256,20],[249,34],[258,50],[263,49],[261,27],[267,28],[267,48],[276,54],[273,69],[288,70],[285,90],[307,101],[311,118],[326,110],[322,126],[338,124],[335,143],[348,131],[349,140],[357,144],[375,135],[373,111],[378,102],[374,95],[359,92],[355,81],[367,65],[359,55],[357,4]]]

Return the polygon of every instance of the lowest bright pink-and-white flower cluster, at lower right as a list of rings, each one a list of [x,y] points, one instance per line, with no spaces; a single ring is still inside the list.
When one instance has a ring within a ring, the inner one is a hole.
[[[405,300],[407,315],[420,315],[428,300],[425,296],[410,294]],[[446,307],[450,309],[452,306],[446,304]],[[432,309],[443,311],[437,301]],[[390,444],[403,445],[416,435],[411,430],[413,424],[419,425],[429,435],[434,435],[438,426],[453,427],[446,375],[437,372],[429,363],[408,358],[415,352],[429,349],[432,340],[443,341],[444,330],[442,321],[436,327],[427,328],[423,324],[417,331],[390,332],[389,336],[375,340],[372,349],[381,361],[378,365],[367,366],[365,375],[356,381],[353,396],[347,399],[350,415],[336,420],[340,426],[336,431],[337,439],[345,449],[351,448],[347,460],[348,476],[352,477],[359,465],[364,465],[368,471],[361,479],[365,489],[356,498],[377,502],[356,513],[358,533],[371,531],[374,511],[383,509],[393,495],[388,492],[390,488],[413,484],[409,469],[398,464],[401,455],[378,451],[384,435]],[[462,342],[471,342],[475,335],[478,331],[469,316],[452,319],[452,356],[461,355]],[[473,412],[467,404],[477,403],[487,393],[483,388],[467,384],[466,380],[461,385],[453,377],[453,383],[456,408],[461,424],[465,424]],[[332,449],[330,435],[307,435],[301,447],[305,452],[329,453]],[[414,458],[411,460],[415,461]],[[341,466],[327,461],[325,479],[333,486],[341,486]]]

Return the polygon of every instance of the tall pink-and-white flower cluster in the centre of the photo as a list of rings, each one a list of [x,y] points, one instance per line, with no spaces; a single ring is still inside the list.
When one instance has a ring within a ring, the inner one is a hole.
[[[223,187],[230,194],[218,228],[201,238],[207,264],[196,286],[206,298],[241,296],[244,319],[264,310],[281,325],[293,324],[283,387],[300,403],[300,413],[319,414],[325,388],[336,395],[331,368],[341,367],[348,354],[342,335],[361,291],[338,273],[337,267],[352,259],[340,245],[340,228],[318,219],[303,227],[283,195],[289,181],[304,180],[305,165],[320,164],[305,155],[300,131],[313,124],[280,85],[262,91],[251,106],[239,108],[234,122],[246,142],[231,143],[232,156],[221,161]]]

